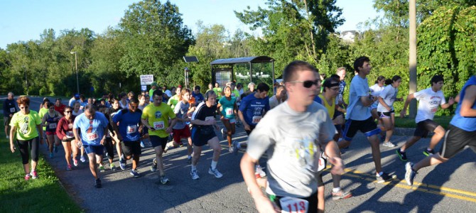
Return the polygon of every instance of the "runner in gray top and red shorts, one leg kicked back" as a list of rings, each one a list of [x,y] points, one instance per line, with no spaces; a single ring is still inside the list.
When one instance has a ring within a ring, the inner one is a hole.
[[[192,134],[190,133],[190,128],[188,127],[187,123],[190,123],[190,117],[188,114],[193,112],[190,110],[190,104],[188,104],[188,99],[190,99],[190,89],[183,89],[180,95],[180,99],[175,105],[175,109],[173,109],[173,113],[175,113],[175,117],[177,123],[173,126],[173,141],[169,142],[166,146],[166,150],[168,148],[176,148],[180,146],[180,139],[186,138],[187,139],[187,163],[192,163]],[[166,152],[166,151],[164,151]]]

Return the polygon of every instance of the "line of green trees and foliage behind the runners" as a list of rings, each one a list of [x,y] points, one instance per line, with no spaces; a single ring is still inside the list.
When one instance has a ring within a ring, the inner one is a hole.
[[[438,74],[445,77],[445,95],[455,96],[474,75],[475,5],[471,0],[417,1],[418,90],[429,87],[431,77]],[[139,75],[145,74],[153,74],[161,86],[183,84],[183,68],[188,67],[184,55],[200,60],[190,64],[190,82],[202,87],[211,81],[210,62],[218,58],[267,55],[276,60],[275,77],[292,60],[308,61],[328,76],[343,66],[350,82],[353,60],[367,55],[373,66],[369,84],[379,75],[400,75],[404,81],[399,97],[404,97],[409,88],[409,2],[375,0],[374,8],[384,15],[362,23],[355,40],[347,42],[336,32],[345,19],[335,0],[266,0],[266,7],[234,11],[261,35],[240,29],[230,35],[225,26],[201,21],[194,35],[170,1],[139,1],[104,33],[88,28],[59,33],[45,29],[39,40],[0,48],[0,92],[74,94],[75,55],[71,52],[77,54],[80,92],[89,96],[139,91]]]

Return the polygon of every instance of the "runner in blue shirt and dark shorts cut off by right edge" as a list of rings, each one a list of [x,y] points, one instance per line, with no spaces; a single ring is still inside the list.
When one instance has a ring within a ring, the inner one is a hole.
[[[445,163],[454,155],[469,146],[476,153],[476,75],[472,75],[456,97],[458,107],[455,116],[450,121],[448,131],[443,139],[443,146],[435,155],[429,155],[413,165],[405,165],[405,180],[408,185],[413,185],[413,179],[418,170],[430,165]]]

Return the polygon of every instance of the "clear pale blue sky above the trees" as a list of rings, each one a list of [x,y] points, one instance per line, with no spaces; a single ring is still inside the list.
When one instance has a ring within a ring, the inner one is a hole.
[[[53,28],[56,35],[65,29],[89,28],[104,33],[108,26],[117,26],[124,11],[137,1],[125,0],[0,0],[0,48],[20,40],[38,40],[45,29]],[[161,1],[162,3],[165,1]],[[197,31],[196,23],[206,26],[222,24],[232,34],[237,28],[249,31],[233,11],[266,6],[264,0],[171,0],[183,14],[183,22]],[[337,0],[345,23],[337,31],[357,30],[357,24],[374,18],[377,11],[373,0]],[[255,32],[258,34],[258,32]]]

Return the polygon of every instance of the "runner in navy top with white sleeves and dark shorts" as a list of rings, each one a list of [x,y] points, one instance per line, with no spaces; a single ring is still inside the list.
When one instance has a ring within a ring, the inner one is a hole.
[[[212,164],[208,169],[210,175],[214,175],[215,178],[222,178],[222,173],[217,170],[218,158],[222,148],[220,147],[220,141],[218,141],[217,135],[213,128],[218,130],[218,126],[215,121],[215,111],[217,111],[217,94],[213,90],[205,93],[205,102],[198,104],[197,109],[193,112],[192,119],[190,121],[192,126],[192,142],[193,142],[193,158],[192,158],[192,170],[190,175],[192,180],[200,178],[197,171],[197,163],[202,154],[202,146],[208,144],[213,150]]]

